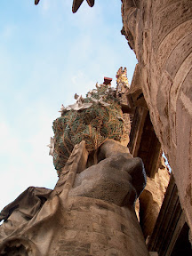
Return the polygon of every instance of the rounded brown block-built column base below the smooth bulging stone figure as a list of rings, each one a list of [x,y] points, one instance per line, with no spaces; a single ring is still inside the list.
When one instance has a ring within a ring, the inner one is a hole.
[[[52,255],[148,255],[148,250],[132,207],[74,197],[63,212],[56,253]]]

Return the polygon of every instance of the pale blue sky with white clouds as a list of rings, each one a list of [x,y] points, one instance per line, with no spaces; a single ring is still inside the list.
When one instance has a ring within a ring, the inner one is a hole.
[[[0,210],[29,186],[54,188],[58,180],[46,147],[61,104],[75,102],[137,63],[121,35],[121,1],[0,1]]]

